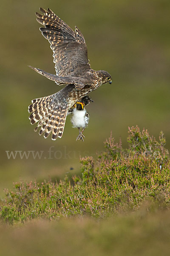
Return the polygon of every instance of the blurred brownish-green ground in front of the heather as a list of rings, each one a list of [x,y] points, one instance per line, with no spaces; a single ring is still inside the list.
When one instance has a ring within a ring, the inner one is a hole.
[[[0,254],[75,256],[165,256],[170,252],[170,212],[150,209],[118,213],[107,220],[39,219],[9,227],[0,224]]]

